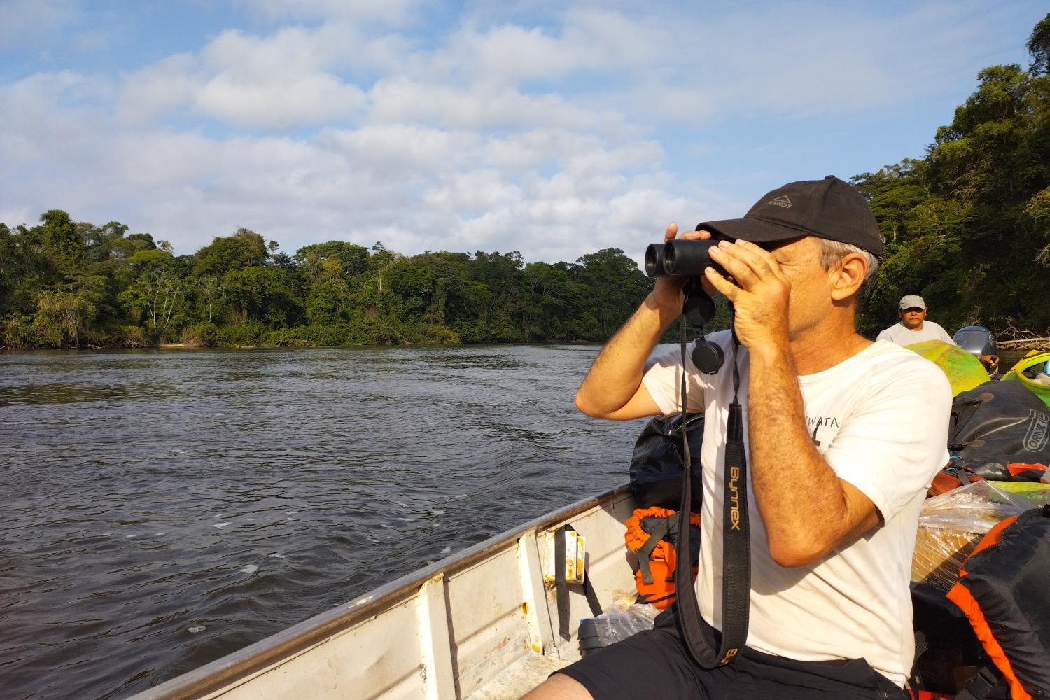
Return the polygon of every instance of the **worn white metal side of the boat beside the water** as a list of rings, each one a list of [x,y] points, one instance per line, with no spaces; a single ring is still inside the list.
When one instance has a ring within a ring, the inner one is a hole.
[[[571,524],[587,540],[587,570],[603,606],[632,590],[622,523],[627,486],[579,501],[133,696],[133,700],[242,698],[517,697],[579,658],[558,635],[544,584],[546,533]],[[546,572],[550,573],[550,572]]]

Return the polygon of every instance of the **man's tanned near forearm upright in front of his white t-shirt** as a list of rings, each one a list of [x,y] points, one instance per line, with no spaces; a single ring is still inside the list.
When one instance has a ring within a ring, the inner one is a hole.
[[[875,523],[850,512],[842,482],[810,438],[786,343],[781,348],[752,349],[750,358],[751,474],[770,554],[781,566],[810,564],[857,526],[867,529]]]

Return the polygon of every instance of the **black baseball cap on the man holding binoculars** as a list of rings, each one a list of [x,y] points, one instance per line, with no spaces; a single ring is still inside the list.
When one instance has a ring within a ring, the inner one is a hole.
[[[864,195],[835,175],[788,183],[756,201],[743,218],[702,221],[696,226],[701,229],[755,243],[816,236],[857,246],[876,257],[886,245]]]

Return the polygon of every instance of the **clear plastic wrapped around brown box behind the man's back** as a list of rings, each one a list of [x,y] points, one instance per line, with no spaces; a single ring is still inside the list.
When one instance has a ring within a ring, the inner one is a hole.
[[[1031,507],[1027,499],[986,481],[927,499],[919,515],[911,580],[946,593],[981,538],[996,523]]]

